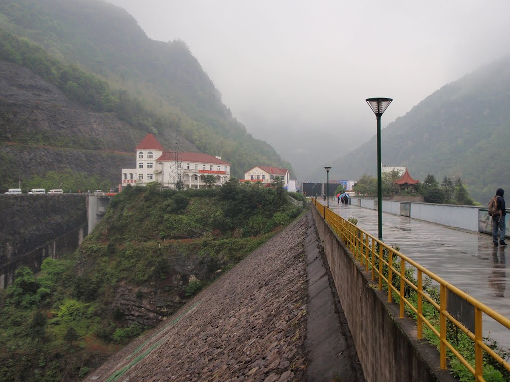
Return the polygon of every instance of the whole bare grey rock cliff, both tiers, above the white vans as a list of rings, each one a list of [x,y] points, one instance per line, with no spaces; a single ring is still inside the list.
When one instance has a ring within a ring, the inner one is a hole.
[[[0,187],[72,170],[118,184],[146,131],[69,100],[27,68],[0,60]],[[49,143],[49,144],[48,144]]]

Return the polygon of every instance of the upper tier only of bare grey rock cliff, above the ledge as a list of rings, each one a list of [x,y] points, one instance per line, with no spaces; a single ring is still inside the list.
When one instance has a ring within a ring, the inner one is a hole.
[[[27,68],[0,61],[0,140],[133,152],[146,131],[69,100]]]

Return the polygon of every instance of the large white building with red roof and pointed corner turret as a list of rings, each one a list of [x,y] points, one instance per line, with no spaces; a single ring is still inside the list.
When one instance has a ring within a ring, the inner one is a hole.
[[[148,133],[136,147],[136,168],[122,169],[121,185],[158,181],[163,187],[175,188],[182,180],[187,188],[205,186],[206,175],[213,175],[217,185],[230,179],[231,163],[220,156],[183,151],[175,159],[175,152],[163,149],[153,134]]]

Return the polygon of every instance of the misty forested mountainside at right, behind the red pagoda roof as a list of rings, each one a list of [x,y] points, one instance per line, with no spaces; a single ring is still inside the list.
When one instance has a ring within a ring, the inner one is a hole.
[[[510,188],[508,110],[510,57],[443,86],[382,129],[382,163],[406,166],[421,180],[461,176],[473,198],[486,204],[496,188]],[[373,123],[375,131],[375,117]],[[376,158],[374,136],[333,163],[329,176],[376,175]]]

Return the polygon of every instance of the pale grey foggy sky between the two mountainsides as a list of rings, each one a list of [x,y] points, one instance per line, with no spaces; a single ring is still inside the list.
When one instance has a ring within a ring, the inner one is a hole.
[[[506,0],[108,1],[149,38],[184,40],[233,115],[294,167],[304,134],[326,137],[333,157],[367,141],[365,98],[394,99],[384,127],[510,46]]]

